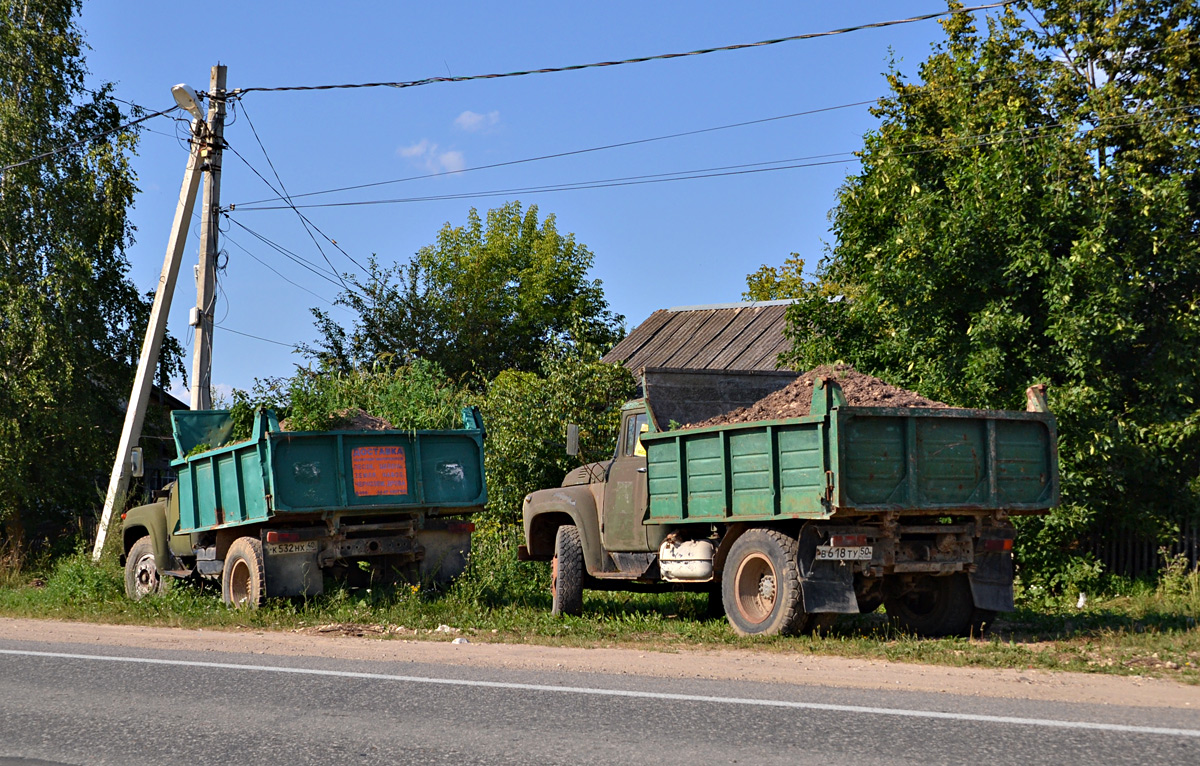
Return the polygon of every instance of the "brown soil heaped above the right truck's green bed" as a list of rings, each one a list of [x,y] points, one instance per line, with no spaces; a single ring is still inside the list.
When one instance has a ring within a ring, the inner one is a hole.
[[[846,395],[846,403],[852,407],[948,407],[942,402],[925,399],[920,394],[884,383],[850,365],[822,365],[809,370],[786,388],[768,394],[749,407],[739,407],[724,415],[701,423],[691,423],[684,427],[700,429],[712,425],[754,423],[755,420],[800,418],[811,412],[812,384],[821,378],[836,381]]]

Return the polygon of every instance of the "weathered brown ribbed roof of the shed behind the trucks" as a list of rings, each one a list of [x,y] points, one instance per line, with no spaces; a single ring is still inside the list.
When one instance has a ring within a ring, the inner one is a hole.
[[[630,370],[776,370],[790,300],[660,309],[605,354]]]

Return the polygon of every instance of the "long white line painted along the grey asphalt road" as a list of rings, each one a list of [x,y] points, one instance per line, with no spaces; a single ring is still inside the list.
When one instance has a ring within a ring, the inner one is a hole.
[[[626,689],[600,689],[593,687],[556,687],[541,683],[509,683],[503,681],[468,681],[462,678],[430,678],[425,676],[394,676],[379,672],[354,672],[349,670],[319,670],[313,668],[287,668],[277,665],[242,665],[238,663],[204,663],[186,659],[155,659],[150,657],[113,657],[107,654],[71,654],[66,652],[31,652],[0,650],[0,654],[18,657],[48,657],[55,659],[82,659],[103,663],[133,663],[142,665],[174,665],[179,668],[210,668],[220,670],[248,670],[253,672],[277,672],[299,676],[326,676],[334,678],[361,678],[367,681],[396,681],[401,683],[432,683],[449,687],[474,687],[482,689],[509,689],[516,692],[551,692],[556,694],[587,694],[592,696],[619,696],[641,700],[670,700],[676,702],[709,702],[713,705],[750,705],[757,707],[782,707],[790,710],[818,710],[835,713],[863,716],[899,716],[902,718],[935,718],[1016,726],[1042,726],[1049,729],[1084,729],[1090,731],[1120,731],[1128,734],[1156,734],[1176,737],[1198,737],[1200,729],[1168,729],[1164,726],[1133,726],[1104,724],[1090,720],[1055,720],[1052,718],[1019,718],[1014,716],[980,716],[976,713],[943,713],[940,711],[905,710],[898,707],[868,707],[863,705],[827,705],[824,702],[793,702],[790,700],[756,700],[739,696],[709,696],[704,694],[670,694],[666,692],[631,692]]]

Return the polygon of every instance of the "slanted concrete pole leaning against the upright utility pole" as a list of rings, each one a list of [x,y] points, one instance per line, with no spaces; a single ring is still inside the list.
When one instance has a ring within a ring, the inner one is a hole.
[[[142,343],[142,357],[138,359],[138,372],[133,378],[133,391],[125,411],[125,425],[121,429],[121,441],[116,448],[116,460],[113,474],[108,480],[108,492],[104,493],[104,511],[96,531],[96,546],[91,557],[100,559],[104,549],[104,537],[113,519],[113,508],[118,499],[124,501],[130,489],[130,455],[133,445],[142,438],[142,423],[145,420],[146,405],[150,401],[150,388],[158,370],[158,352],[162,337],[167,333],[167,315],[170,313],[170,298],[175,294],[175,277],[179,275],[179,263],[182,261],[184,245],[187,243],[187,229],[192,225],[192,210],[196,208],[196,192],[200,186],[200,162],[205,154],[204,122],[192,122],[192,149],[187,155],[187,167],[184,170],[184,185],[179,190],[179,203],[175,205],[175,221],[170,227],[170,239],[167,243],[167,257],[162,262],[162,275],[158,277],[158,289],[154,295],[154,307],[150,310],[150,324]]]

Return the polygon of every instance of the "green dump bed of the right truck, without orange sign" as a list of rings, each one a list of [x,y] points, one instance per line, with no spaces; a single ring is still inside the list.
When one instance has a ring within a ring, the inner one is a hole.
[[[1049,413],[834,407],[824,414],[648,433],[647,523],[822,519],[1058,502]]]

